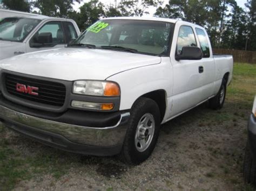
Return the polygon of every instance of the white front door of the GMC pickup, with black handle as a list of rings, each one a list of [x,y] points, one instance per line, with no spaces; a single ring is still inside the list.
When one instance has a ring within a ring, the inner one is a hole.
[[[191,25],[177,22],[173,34],[171,63],[173,65],[173,106],[171,116],[184,112],[202,100],[201,60],[176,60],[184,46],[198,46],[196,34]]]

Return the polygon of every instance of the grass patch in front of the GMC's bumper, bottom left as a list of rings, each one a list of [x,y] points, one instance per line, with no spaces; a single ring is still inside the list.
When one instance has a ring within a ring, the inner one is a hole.
[[[3,133],[2,130],[1,133]],[[59,161],[62,151],[22,155],[19,150],[11,148],[8,139],[0,136],[0,190],[10,190],[21,180],[30,180],[35,175],[51,174],[53,178],[62,177],[70,161]]]

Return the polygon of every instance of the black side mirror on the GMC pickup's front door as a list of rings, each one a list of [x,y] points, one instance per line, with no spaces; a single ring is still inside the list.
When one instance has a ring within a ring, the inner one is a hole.
[[[184,46],[180,54],[175,56],[176,60],[201,60],[203,53],[196,46]]]

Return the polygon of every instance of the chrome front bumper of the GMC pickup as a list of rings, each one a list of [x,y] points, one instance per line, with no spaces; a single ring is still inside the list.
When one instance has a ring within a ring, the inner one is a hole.
[[[118,154],[129,117],[130,113],[125,112],[120,114],[116,125],[93,128],[34,117],[0,105],[0,120],[12,130],[46,145],[90,155]]]

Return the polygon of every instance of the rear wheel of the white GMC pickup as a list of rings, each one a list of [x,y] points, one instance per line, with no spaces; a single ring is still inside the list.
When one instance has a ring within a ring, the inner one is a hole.
[[[227,82],[225,79],[223,79],[218,94],[209,100],[209,108],[215,110],[223,108],[223,104],[226,98],[226,89]]]

